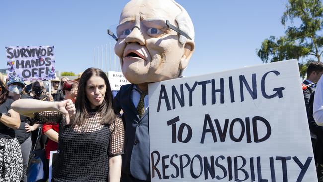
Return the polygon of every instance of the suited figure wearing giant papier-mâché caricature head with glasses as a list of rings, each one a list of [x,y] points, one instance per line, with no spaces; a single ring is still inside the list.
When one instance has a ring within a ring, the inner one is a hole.
[[[131,0],[115,39],[123,75],[132,83],[114,99],[115,111],[124,112],[127,141],[121,182],[149,182],[148,83],[181,76],[194,51],[194,27],[174,0]]]

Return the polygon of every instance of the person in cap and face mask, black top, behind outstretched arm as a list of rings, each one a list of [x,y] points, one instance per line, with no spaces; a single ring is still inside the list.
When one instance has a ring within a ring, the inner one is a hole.
[[[25,98],[32,99],[30,95],[26,94],[23,91],[24,87],[25,87],[25,83],[21,78],[11,77],[8,81],[9,98],[14,101],[18,99],[25,99]],[[33,126],[30,126],[29,118],[23,115],[20,115],[20,121],[21,121],[20,127],[17,130],[15,130],[15,134],[21,147],[22,160],[23,160],[23,181],[27,182],[26,172],[28,167],[29,154],[31,151],[30,132],[37,129],[38,124],[34,124]]]

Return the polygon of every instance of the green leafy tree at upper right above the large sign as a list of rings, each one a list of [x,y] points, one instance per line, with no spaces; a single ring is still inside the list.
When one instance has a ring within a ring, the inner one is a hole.
[[[265,39],[257,55],[264,63],[304,58],[306,61],[299,63],[300,74],[304,76],[309,62],[320,61],[323,52],[323,36],[319,35],[323,29],[323,6],[321,0],[288,2],[281,17],[282,25],[287,27],[285,35]]]

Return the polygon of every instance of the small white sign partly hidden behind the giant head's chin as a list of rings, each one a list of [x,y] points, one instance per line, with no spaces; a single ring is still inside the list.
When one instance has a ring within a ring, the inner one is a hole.
[[[113,96],[118,93],[122,85],[130,84],[130,82],[128,82],[128,80],[123,76],[122,72],[109,71],[108,78]]]

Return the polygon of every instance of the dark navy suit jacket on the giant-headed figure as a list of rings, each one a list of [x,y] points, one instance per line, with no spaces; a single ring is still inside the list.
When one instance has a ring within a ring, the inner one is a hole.
[[[122,173],[132,175],[139,180],[150,181],[148,110],[142,118],[139,118],[137,109],[131,100],[133,86],[133,84],[121,86],[113,100],[115,112],[123,110],[122,119],[125,126]]]

